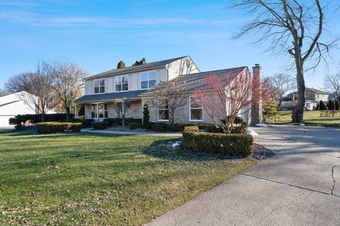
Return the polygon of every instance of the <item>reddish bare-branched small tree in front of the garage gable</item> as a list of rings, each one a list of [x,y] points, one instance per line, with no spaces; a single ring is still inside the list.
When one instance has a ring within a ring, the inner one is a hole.
[[[225,133],[232,132],[237,116],[249,112],[251,105],[271,102],[268,79],[254,81],[249,71],[211,75],[205,78],[205,82],[209,91],[197,90],[193,100],[203,107],[215,126],[222,125]]]

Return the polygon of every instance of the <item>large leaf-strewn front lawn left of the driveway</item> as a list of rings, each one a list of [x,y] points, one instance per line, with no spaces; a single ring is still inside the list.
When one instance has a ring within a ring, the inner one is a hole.
[[[0,225],[142,225],[252,165],[175,138],[0,133]]]

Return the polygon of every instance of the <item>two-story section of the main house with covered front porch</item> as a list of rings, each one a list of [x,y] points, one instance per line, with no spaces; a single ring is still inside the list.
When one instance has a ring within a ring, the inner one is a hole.
[[[117,117],[115,100],[131,100],[126,117],[142,118],[142,99],[153,85],[166,82],[179,75],[198,73],[200,70],[190,57],[179,57],[164,61],[113,69],[86,78],[85,95],[77,104],[84,104],[86,119]]]

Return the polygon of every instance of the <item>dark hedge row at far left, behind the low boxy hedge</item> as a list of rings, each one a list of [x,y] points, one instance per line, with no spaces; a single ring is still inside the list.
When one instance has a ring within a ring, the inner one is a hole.
[[[74,114],[71,115],[71,119],[74,119]],[[45,114],[45,121],[65,121],[66,114]],[[26,121],[30,121],[32,124],[36,124],[42,121],[41,114],[18,114],[16,117],[9,119],[9,124],[18,125],[25,124]]]

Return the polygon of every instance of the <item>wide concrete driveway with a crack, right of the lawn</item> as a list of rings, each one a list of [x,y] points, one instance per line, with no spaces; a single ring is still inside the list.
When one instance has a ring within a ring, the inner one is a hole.
[[[253,129],[274,157],[147,225],[340,225],[340,129]]]

